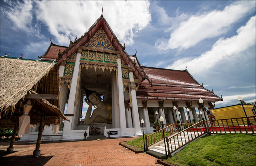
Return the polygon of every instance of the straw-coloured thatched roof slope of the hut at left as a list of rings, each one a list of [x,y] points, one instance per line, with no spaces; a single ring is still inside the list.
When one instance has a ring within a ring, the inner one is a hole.
[[[4,115],[12,114],[19,100],[25,98],[27,91],[37,84],[44,75],[48,74],[55,65],[54,63],[33,62],[31,60],[21,59],[13,62],[15,59],[1,58],[0,115],[2,115],[2,113],[4,113]],[[16,92],[18,93],[16,94]]]

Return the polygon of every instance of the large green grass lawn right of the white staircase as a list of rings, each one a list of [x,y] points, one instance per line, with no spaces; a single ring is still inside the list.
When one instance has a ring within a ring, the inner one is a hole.
[[[255,134],[218,134],[197,139],[168,159],[173,165],[256,165]]]

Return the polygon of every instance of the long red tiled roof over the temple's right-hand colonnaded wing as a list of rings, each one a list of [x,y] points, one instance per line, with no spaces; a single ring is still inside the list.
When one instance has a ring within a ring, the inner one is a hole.
[[[138,59],[136,58],[138,61]],[[142,67],[138,63],[139,67]],[[188,70],[171,70],[165,68],[142,67],[147,80],[144,80],[136,92],[137,99],[167,100],[222,100],[200,85]]]

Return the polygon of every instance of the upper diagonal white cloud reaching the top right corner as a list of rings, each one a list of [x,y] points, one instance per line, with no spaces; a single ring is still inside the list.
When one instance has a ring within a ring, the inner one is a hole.
[[[204,39],[226,33],[232,24],[252,10],[255,10],[255,1],[238,1],[226,6],[223,11],[214,10],[193,15],[187,21],[182,21],[171,33],[169,41],[159,39],[155,45],[160,50],[187,49]]]

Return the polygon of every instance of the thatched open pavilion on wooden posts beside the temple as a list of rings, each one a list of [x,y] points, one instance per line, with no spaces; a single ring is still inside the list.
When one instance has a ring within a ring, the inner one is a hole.
[[[69,119],[59,109],[59,71],[55,62],[1,57],[1,127],[14,127],[8,152],[13,151],[19,117],[23,106],[30,100],[30,125],[40,123],[37,146],[33,157],[40,156],[43,127],[60,118]]]

